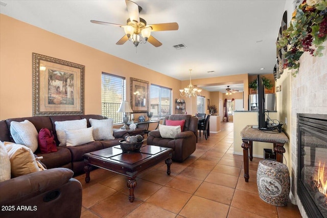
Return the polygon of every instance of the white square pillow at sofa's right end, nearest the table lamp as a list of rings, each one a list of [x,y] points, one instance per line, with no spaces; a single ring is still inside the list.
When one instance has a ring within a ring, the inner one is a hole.
[[[91,126],[93,127],[94,140],[109,140],[113,137],[113,119],[89,119]]]

